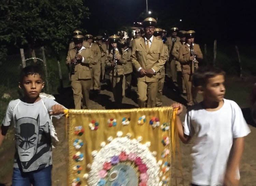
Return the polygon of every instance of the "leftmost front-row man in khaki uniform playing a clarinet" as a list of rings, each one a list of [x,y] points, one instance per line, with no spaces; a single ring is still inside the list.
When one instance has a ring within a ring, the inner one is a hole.
[[[75,47],[68,51],[66,60],[66,64],[70,65],[71,69],[71,87],[73,90],[75,109],[81,109],[82,96],[83,108],[88,108],[89,90],[91,87],[89,65],[94,64],[93,53],[90,48],[83,46],[83,40],[83,35],[73,36]]]

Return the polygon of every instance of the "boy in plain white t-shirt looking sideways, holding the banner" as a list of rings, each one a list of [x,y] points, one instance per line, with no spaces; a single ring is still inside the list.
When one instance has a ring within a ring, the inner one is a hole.
[[[240,107],[224,99],[225,73],[218,68],[200,67],[192,83],[203,101],[188,108],[184,124],[179,115],[183,106],[175,103],[175,125],[183,143],[194,136],[191,186],[238,186],[239,163],[244,137],[250,133]]]

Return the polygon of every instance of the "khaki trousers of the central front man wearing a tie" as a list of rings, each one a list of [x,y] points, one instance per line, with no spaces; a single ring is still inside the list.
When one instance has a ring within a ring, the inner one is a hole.
[[[152,108],[156,106],[158,82],[138,81],[138,105],[139,108]],[[148,97],[147,97],[148,95]]]

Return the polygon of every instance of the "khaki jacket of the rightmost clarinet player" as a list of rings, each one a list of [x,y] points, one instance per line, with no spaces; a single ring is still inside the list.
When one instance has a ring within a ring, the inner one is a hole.
[[[197,53],[196,56],[196,68],[198,68],[198,59],[203,59],[203,54],[198,44],[194,44],[194,51]],[[193,74],[194,64],[189,60],[190,48],[187,44],[182,45],[179,51],[179,62],[181,63],[181,69],[183,74]]]

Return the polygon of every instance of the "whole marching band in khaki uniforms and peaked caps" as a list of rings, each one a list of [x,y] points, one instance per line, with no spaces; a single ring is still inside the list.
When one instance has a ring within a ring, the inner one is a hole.
[[[162,106],[166,76],[180,94],[187,95],[187,106],[196,103],[191,76],[203,55],[194,43],[195,31],[173,27],[167,37],[167,31],[156,25],[154,18],[144,19],[143,28],[137,29],[131,39],[125,39],[120,31],[112,36],[73,32],[67,65],[74,68],[73,72],[70,70],[70,80],[76,109],[90,108],[89,92],[100,93],[100,82],[106,82],[105,75],[110,77],[115,108],[121,108],[123,97],[130,94],[132,79],[137,79],[140,108]],[[167,64],[169,71],[166,71]]]

